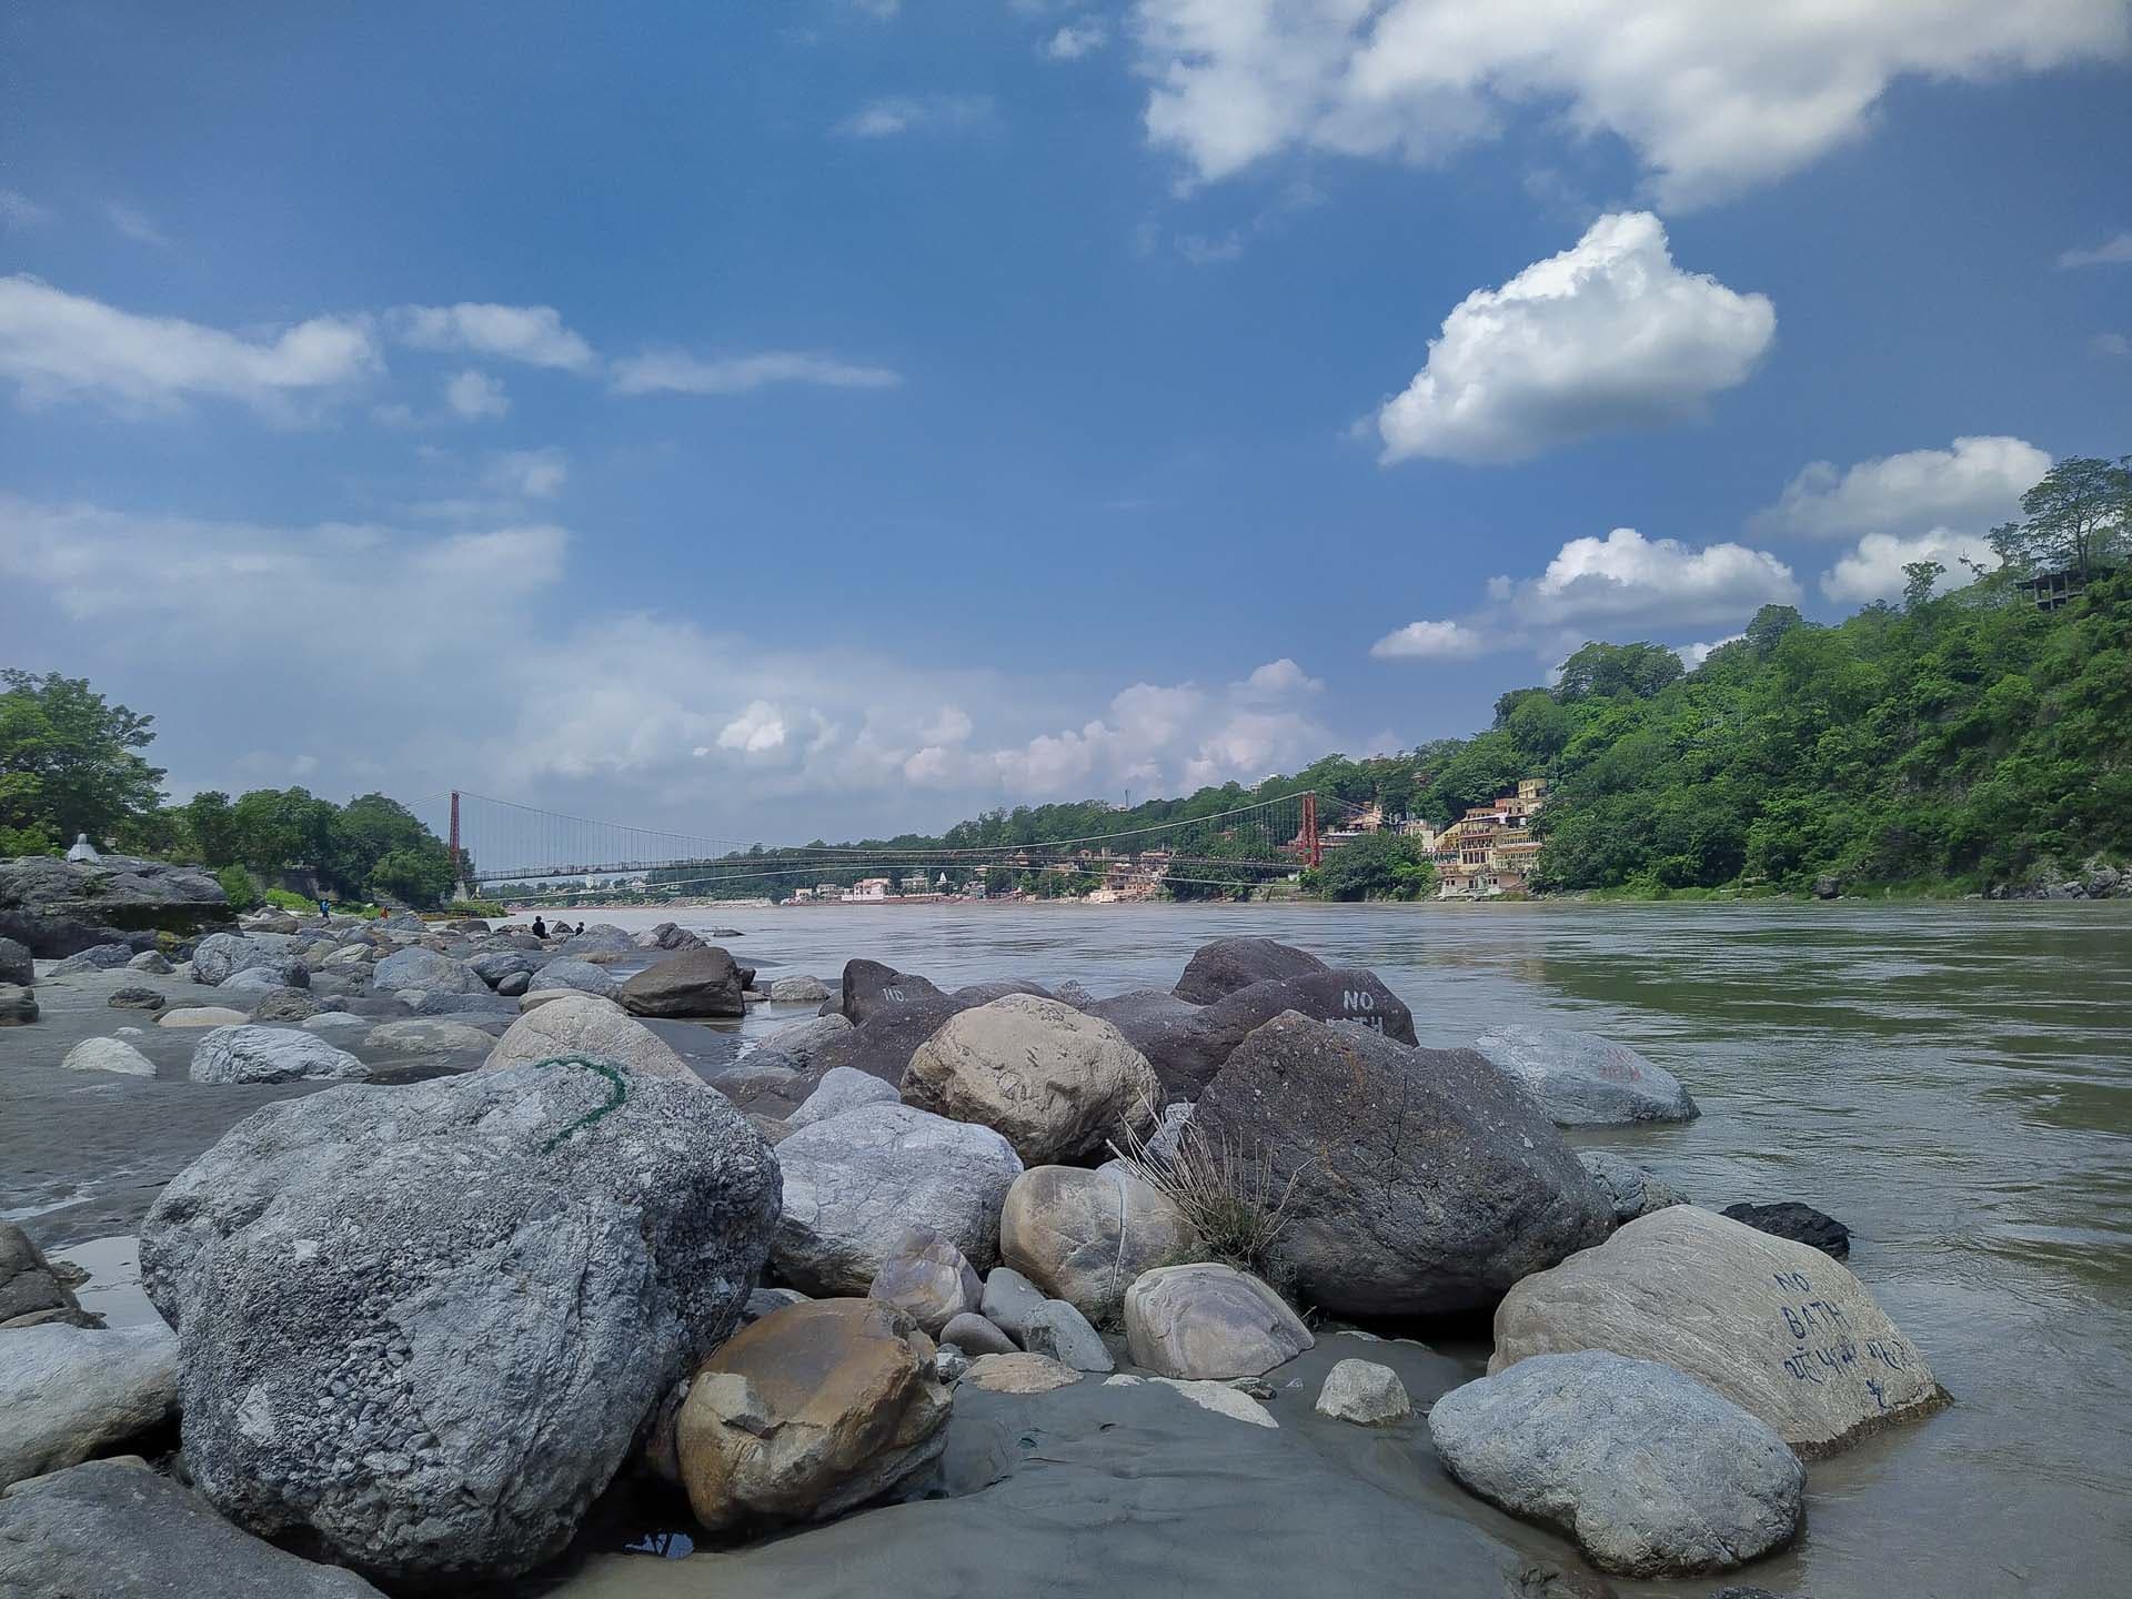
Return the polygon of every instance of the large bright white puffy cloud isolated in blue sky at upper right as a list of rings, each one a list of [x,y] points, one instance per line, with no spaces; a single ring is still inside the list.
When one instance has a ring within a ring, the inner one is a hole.
[[[1428,365],[1377,411],[1384,461],[1524,461],[1693,420],[1774,337],[1770,301],[1674,266],[1654,215],[1605,215],[1573,249],[1443,318]]]

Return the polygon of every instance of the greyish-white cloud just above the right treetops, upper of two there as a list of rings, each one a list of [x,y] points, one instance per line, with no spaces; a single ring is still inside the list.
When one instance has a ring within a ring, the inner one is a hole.
[[[1838,471],[1812,461],[1750,527],[1763,537],[1844,539],[1927,527],[1987,529],[2021,514],[2021,495],[2051,469],[2047,450],[2004,435],[1906,450]]]

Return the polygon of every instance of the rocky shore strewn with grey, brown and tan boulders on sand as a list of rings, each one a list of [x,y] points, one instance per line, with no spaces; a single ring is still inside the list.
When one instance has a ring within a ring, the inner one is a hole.
[[[0,1593],[1708,1593],[1947,1403],[1840,1224],[1565,1138],[1671,1072],[1426,1049],[1262,938],[1102,998],[674,923],[68,942],[0,942],[13,1070],[226,1130],[136,1326],[0,1226]]]

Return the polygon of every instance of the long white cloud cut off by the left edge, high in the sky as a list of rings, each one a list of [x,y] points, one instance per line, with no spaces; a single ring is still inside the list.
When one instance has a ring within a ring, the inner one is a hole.
[[[0,279],[0,375],[28,403],[96,399],[122,414],[171,411],[188,399],[235,399],[294,418],[316,399],[377,371],[362,322],[311,318],[249,339],[171,316],[134,316],[34,277]]]

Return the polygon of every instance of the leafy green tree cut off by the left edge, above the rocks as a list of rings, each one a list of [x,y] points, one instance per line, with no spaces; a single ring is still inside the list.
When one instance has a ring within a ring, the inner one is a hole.
[[[162,800],[139,755],[154,716],[109,704],[87,678],[0,669],[0,855],[111,840]]]

